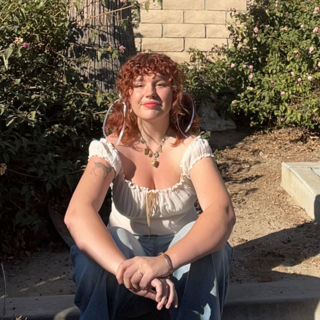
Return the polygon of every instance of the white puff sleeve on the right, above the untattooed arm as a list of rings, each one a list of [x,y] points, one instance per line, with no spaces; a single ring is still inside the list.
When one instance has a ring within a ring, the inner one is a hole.
[[[190,170],[193,165],[200,159],[204,157],[212,157],[212,149],[209,145],[208,140],[202,139],[200,136],[197,136],[187,147],[182,161],[181,168],[182,172],[190,178]]]

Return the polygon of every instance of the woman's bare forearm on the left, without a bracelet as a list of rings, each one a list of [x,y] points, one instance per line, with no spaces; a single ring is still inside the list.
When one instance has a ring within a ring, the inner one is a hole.
[[[102,268],[116,274],[119,264],[126,259],[99,214],[93,208],[71,208],[65,223],[78,248]]]

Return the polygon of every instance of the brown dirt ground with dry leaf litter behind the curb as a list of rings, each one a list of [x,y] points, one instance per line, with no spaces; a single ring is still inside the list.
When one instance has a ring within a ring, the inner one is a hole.
[[[320,227],[280,186],[282,162],[320,161],[319,137],[300,129],[230,130],[210,141],[237,216],[231,283],[319,278]],[[6,261],[3,269],[1,298],[75,290],[67,245]]]

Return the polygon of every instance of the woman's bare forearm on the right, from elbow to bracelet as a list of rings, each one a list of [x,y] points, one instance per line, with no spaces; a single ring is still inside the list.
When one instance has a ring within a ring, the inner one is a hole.
[[[224,213],[218,214],[219,211]],[[220,250],[226,244],[234,223],[235,214],[232,205],[207,208],[186,236],[166,251],[172,260],[173,268],[176,270]]]

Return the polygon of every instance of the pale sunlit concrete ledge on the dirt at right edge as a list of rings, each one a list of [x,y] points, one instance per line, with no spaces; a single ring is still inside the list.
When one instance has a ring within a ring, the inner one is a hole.
[[[320,162],[283,162],[281,186],[314,220],[320,220]]]

